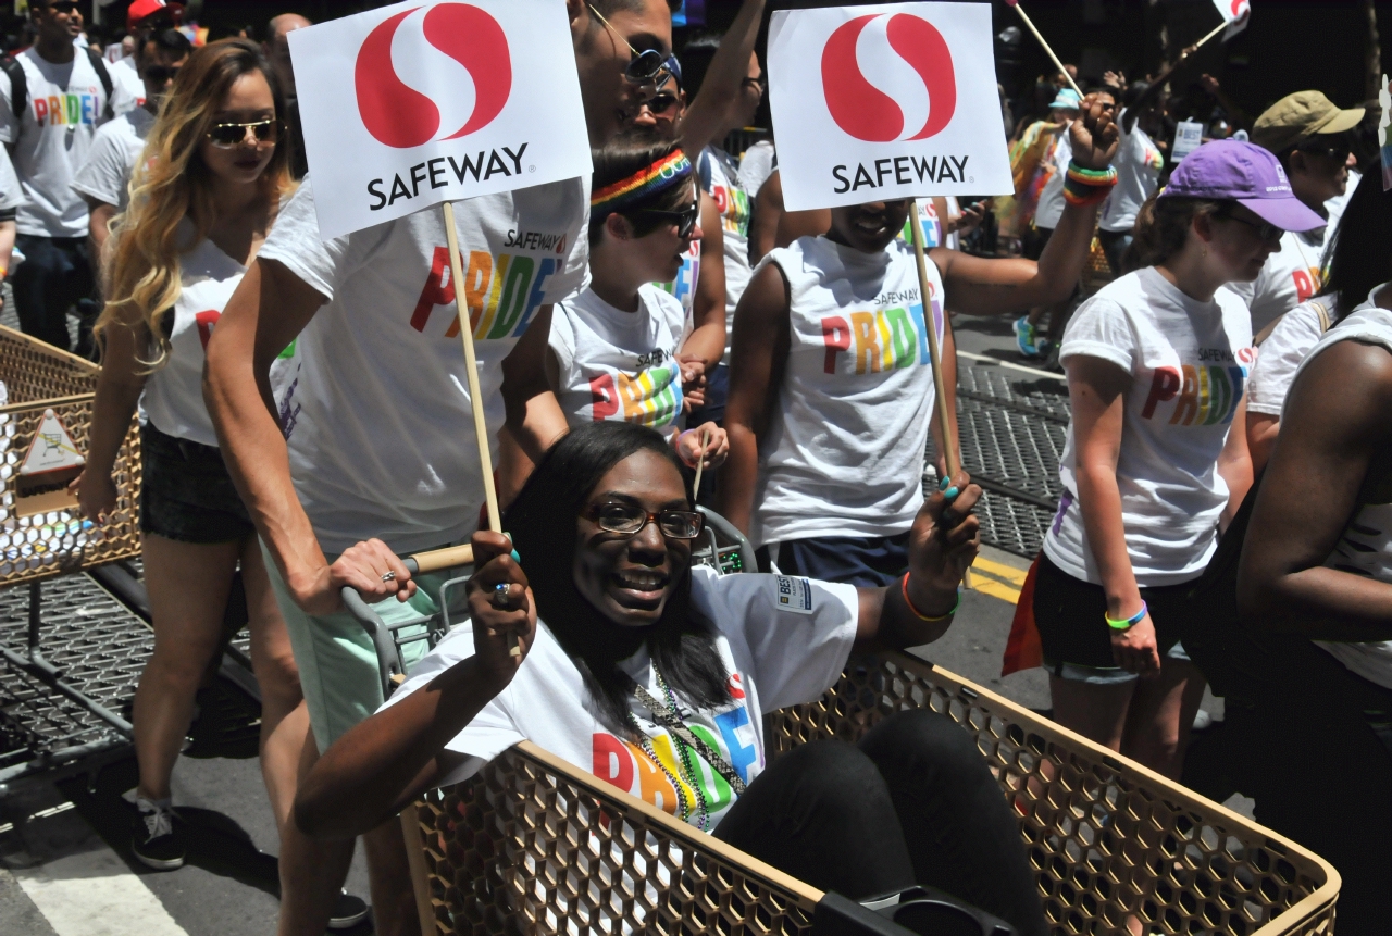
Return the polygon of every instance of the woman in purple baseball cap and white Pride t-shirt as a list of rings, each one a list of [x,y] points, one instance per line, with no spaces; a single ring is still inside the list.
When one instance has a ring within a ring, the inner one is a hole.
[[[1187,592],[1251,484],[1251,320],[1222,287],[1321,224],[1267,150],[1200,146],[1141,207],[1132,273],[1063,335],[1073,417],[1033,605],[1054,718],[1171,777],[1204,688],[1179,644]]]

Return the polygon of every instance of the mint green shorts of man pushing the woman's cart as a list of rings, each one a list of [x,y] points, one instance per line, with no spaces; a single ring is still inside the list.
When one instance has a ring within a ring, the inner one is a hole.
[[[377,672],[377,651],[367,630],[347,611],[331,615],[306,615],[290,597],[290,588],[280,576],[266,544],[266,573],[276,592],[276,604],[290,631],[290,645],[299,668],[299,686],[309,708],[309,723],[315,741],[323,754],[354,725],[363,720],[386,701],[381,697],[381,676]],[[329,556],[333,563],[337,556]],[[398,631],[400,636],[425,633],[423,622],[440,611],[440,586],[468,572],[466,567],[445,569],[415,576],[416,594],[411,601],[387,598],[372,606],[387,624],[422,622],[422,627]],[[451,595],[454,591],[451,590]],[[462,591],[461,591],[462,595]],[[451,622],[457,602],[451,599]],[[461,609],[462,620],[466,611]],[[429,651],[426,641],[411,641],[401,649],[406,672]]]

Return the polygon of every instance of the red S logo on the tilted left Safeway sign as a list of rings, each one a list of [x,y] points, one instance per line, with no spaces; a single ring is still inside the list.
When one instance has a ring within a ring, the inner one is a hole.
[[[408,86],[397,74],[391,47],[401,22],[420,10],[413,7],[383,19],[358,50],[354,85],[362,122],[379,142],[397,149],[420,146],[434,139],[458,139],[483,129],[497,117],[512,90],[512,57],[503,26],[491,15],[468,3],[440,3],[420,19],[420,35],[402,39],[418,46],[422,57],[443,51],[473,78],[473,110],[462,122],[445,125],[440,107]],[[423,43],[422,43],[423,40]],[[420,43],[420,45],[418,45]]]

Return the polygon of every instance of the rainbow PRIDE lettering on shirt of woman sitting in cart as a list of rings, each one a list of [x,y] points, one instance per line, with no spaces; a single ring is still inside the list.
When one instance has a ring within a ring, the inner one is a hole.
[[[745,693],[739,687],[738,675],[731,676],[729,686],[731,695],[735,697],[738,705],[711,718],[715,732],[711,732],[704,725],[695,725],[692,722],[688,722],[686,727],[690,729],[692,734],[718,751],[735,768],[741,779],[749,783],[753,779],[753,768],[757,766],[761,770],[764,765],[754,744],[756,729],[754,723],[749,720],[749,711],[743,702]],[[653,752],[657,755],[661,766],[654,764],[638,744],[614,737],[606,732],[596,732],[593,734],[592,773],[664,812],[678,815],[677,789],[667,773],[677,777],[681,793],[686,797],[688,802],[699,802],[700,798],[692,791],[689,784],[690,776],[681,765],[672,739],[665,729],[651,737],[651,744]],[[704,758],[699,755],[692,757],[704,764]],[[667,772],[663,770],[663,766],[667,768]],[[734,800],[729,783],[717,770],[699,769],[696,782],[706,797],[710,815],[718,814]]]

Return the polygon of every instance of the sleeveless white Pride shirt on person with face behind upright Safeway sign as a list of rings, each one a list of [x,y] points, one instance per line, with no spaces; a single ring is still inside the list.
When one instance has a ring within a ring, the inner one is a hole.
[[[805,236],[763,263],[788,277],[792,312],[750,540],[903,533],[923,506],[935,402],[913,248],[862,253]],[[942,281],[931,261],[927,273],[941,339]]]

